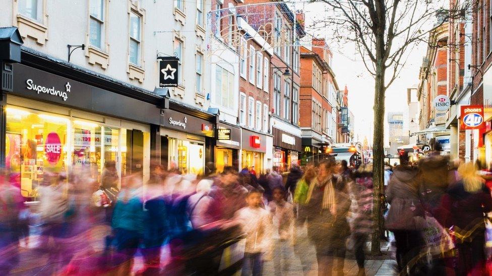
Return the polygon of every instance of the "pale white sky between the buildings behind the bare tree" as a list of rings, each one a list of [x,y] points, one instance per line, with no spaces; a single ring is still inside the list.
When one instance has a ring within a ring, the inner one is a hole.
[[[323,13],[324,5],[321,3],[297,3],[296,9],[304,10],[306,26],[309,26],[317,15]],[[307,33],[316,35],[306,29]],[[322,33],[317,34],[323,37]],[[370,132],[373,129],[373,103],[374,103],[374,79],[367,72],[359,54],[355,52],[353,44],[346,43],[343,47],[327,41],[334,54],[332,69],[335,72],[339,88],[343,89],[347,84],[349,91],[349,109],[355,118],[355,139],[357,135],[362,142],[364,136],[372,138]],[[418,71],[425,55],[426,45],[417,45],[411,52],[399,77],[386,91],[386,112],[403,111],[407,109],[406,89],[418,83]],[[390,72],[387,73],[390,75]],[[386,117],[385,117],[386,118]],[[386,120],[386,119],[385,119]],[[372,141],[370,141],[372,143]]]

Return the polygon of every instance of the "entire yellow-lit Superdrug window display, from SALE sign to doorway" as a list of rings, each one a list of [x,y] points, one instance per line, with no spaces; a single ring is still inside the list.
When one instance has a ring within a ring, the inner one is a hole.
[[[100,182],[109,160],[116,162],[118,175],[130,171],[126,129],[13,107],[6,113],[6,169],[19,179],[25,198],[37,200],[45,173],[65,173],[70,181],[72,169],[84,168]]]

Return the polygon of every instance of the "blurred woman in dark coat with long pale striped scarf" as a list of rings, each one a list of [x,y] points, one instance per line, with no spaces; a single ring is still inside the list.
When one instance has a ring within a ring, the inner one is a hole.
[[[335,167],[334,159],[319,165],[317,177],[309,183],[306,202],[299,206],[304,214],[300,218],[307,220],[307,235],[316,247],[318,275],[331,274],[333,267],[331,241],[337,215],[334,183],[338,181],[333,175]]]

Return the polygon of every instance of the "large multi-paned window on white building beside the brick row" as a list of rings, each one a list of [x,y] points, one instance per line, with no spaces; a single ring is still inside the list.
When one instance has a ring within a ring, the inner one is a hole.
[[[215,66],[216,104],[226,108],[234,106],[234,74],[226,69]]]

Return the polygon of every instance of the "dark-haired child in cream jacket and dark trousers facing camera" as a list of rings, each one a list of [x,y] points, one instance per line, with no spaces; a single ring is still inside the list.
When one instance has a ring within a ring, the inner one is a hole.
[[[250,191],[246,197],[248,206],[236,213],[236,218],[247,235],[242,275],[261,275],[263,254],[270,249],[272,225],[268,211],[260,207],[261,199],[260,191]]]

